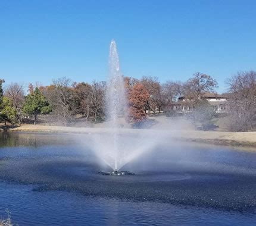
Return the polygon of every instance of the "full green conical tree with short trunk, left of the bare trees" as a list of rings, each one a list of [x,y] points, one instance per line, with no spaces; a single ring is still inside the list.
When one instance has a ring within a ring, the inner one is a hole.
[[[26,114],[33,115],[35,118],[35,124],[37,123],[39,114],[49,114],[51,112],[51,106],[46,101],[45,96],[42,95],[39,88],[31,90],[30,94],[26,96],[23,111]]]

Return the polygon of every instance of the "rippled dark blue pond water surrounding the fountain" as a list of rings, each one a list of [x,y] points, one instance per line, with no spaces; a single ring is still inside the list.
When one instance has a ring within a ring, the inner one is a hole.
[[[166,142],[113,177],[90,135],[0,136],[0,216],[16,224],[256,224],[256,152]]]

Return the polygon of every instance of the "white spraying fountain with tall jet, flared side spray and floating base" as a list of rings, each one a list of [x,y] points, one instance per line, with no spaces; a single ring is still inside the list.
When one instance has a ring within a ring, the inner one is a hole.
[[[114,40],[110,43],[109,55],[110,74],[106,90],[107,133],[93,134],[90,143],[86,145],[112,169],[110,172],[99,171],[101,175],[133,175],[130,171],[120,171],[128,162],[138,158],[157,145],[157,134],[143,133],[121,128],[121,120],[128,112],[126,90],[120,70],[117,45]],[[150,135],[150,136],[149,136]],[[104,165],[105,165],[104,164]]]

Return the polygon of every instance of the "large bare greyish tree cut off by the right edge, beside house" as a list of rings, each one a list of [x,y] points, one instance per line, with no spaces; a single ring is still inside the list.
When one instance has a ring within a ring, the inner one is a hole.
[[[231,131],[248,131],[256,128],[256,72],[239,71],[231,79],[227,109]]]

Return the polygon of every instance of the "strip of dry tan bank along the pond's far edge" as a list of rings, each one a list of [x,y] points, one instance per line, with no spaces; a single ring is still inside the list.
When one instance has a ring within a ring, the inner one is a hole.
[[[167,136],[185,142],[208,143],[212,145],[256,147],[256,132],[221,132],[221,131],[196,131],[196,130],[152,130],[121,128],[122,133],[136,134],[154,133],[157,136]],[[22,125],[10,128],[10,132],[32,132],[32,133],[62,133],[62,134],[99,134],[111,133],[110,128],[90,127],[62,127],[48,125]],[[256,151],[256,149],[255,149]]]

